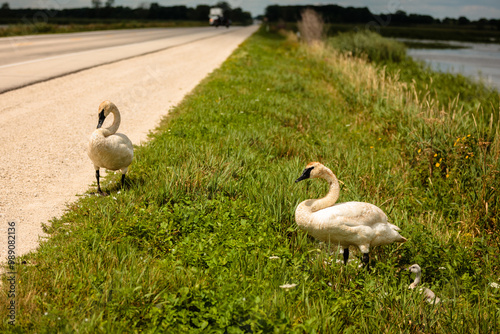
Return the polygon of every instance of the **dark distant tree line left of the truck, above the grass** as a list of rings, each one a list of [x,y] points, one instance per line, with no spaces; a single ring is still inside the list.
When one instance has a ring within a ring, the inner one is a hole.
[[[0,7],[0,23],[27,23],[25,21],[42,21],[47,18],[54,21],[71,19],[115,19],[115,20],[182,20],[182,21],[206,21],[211,7],[221,7],[224,14],[233,23],[250,24],[252,15],[241,8],[231,8],[227,2],[219,2],[215,6],[198,5],[187,6],[160,6],[151,3],[149,7],[145,4],[137,8],[124,6],[113,6],[114,0],[92,0],[91,7],[68,8],[68,9],[11,9],[8,3]]]

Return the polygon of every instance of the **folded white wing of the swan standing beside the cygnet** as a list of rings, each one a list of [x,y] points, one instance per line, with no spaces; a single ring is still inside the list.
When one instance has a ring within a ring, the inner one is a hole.
[[[346,226],[373,226],[387,223],[387,216],[377,206],[363,202],[346,202],[313,213],[315,219]]]

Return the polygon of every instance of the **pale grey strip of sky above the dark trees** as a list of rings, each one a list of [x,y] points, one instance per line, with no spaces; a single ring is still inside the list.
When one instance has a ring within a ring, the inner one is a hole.
[[[102,0],[105,2],[106,0]],[[114,6],[138,7],[151,2],[160,6],[185,5],[196,7],[199,4],[214,5],[219,0],[115,0]],[[90,7],[91,0],[0,0],[0,3],[8,2],[10,8],[78,8]],[[264,14],[269,5],[305,5],[305,4],[336,4],[343,7],[368,7],[374,14],[394,13],[397,10],[408,14],[431,15],[435,18],[458,18],[465,16],[470,20],[479,18],[500,19],[499,0],[337,0],[337,1],[301,1],[301,0],[226,0],[231,7],[241,7],[249,11],[252,16]]]

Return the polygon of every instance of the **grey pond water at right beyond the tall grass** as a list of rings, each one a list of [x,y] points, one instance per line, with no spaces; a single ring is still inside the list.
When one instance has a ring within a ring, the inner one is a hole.
[[[404,40],[403,40],[404,41]],[[416,42],[436,42],[413,40]],[[427,62],[433,70],[460,73],[500,91],[500,44],[441,42],[463,49],[408,49],[408,55]]]

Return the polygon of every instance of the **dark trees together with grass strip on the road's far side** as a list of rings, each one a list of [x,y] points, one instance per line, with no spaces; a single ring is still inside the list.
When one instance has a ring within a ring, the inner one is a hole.
[[[90,1],[89,1],[90,4]],[[70,33],[94,30],[171,28],[208,26],[211,6],[161,6],[157,2],[139,4],[136,8],[113,6],[114,0],[93,0],[93,7],[11,9],[8,2],[0,6],[0,37]],[[227,2],[218,2],[232,25],[249,25],[252,16]]]

